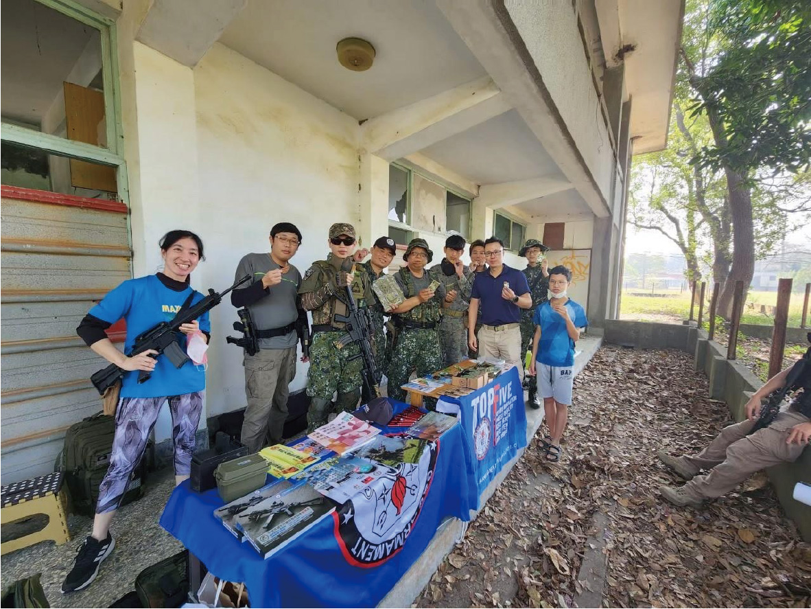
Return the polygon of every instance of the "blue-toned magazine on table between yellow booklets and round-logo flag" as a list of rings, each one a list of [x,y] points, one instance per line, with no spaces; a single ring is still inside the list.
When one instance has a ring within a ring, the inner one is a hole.
[[[396,475],[388,465],[349,455],[321,461],[297,474],[295,479],[311,484],[321,495],[337,503],[345,503],[378,478]]]

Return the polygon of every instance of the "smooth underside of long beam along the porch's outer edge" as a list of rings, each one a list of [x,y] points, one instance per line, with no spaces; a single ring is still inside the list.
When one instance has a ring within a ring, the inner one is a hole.
[[[491,0],[436,0],[436,4],[594,215],[611,215],[538,68],[526,57],[521,41],[513,40],[514,24],[504,5]]]

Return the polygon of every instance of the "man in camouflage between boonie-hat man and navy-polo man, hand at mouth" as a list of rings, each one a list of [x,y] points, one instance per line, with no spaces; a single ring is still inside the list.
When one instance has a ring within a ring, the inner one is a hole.
[[[450,235],[445,240],[445,257],[440,264],[431,267],[448,292],[443,303],[440,322],[440,347],[442,365],[458,364],[467,359],[467,308],[470,306],[470,290],[473,289],[473,270],[461,261],[465,252],[465,238]]]

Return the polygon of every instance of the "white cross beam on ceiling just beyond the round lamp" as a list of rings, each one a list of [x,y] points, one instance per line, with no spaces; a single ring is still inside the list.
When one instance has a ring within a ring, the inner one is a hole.
[[[394,161],[510,110],[489,76],[375,116],[363,123],[363,148]]]

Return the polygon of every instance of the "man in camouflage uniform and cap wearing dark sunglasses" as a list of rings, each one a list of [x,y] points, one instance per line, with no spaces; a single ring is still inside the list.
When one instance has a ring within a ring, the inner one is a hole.
[[[358,406],[363,359],[357,343],[338,343],[345,333],[345,324],[335,317],[349,313],[346,286],[350,286],[358,308],[366,307],[373,299],[366,273],[354,273],[354,227],[345,222],[333,224],[329,227],[328,244],[331,253],[326,260],[312,264],[298,289],[303,309],[312,312],[313,339],[307,372],[307,395],[312,399],[307,412],[308,431],[327,422],[335,391],[338,411],[352,411]]]

